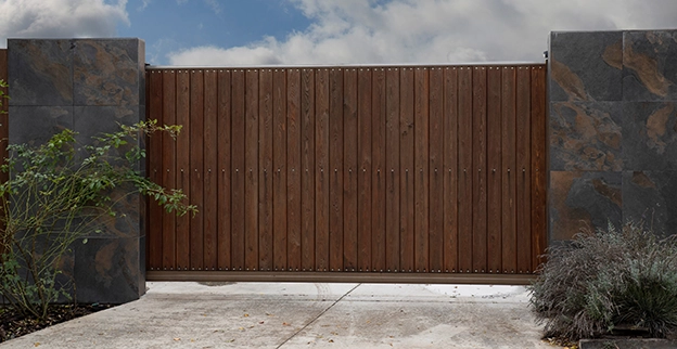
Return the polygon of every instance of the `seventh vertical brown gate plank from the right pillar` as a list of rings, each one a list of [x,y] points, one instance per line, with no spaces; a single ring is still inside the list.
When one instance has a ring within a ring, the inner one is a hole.
[[[458,270],[458,70],[456,67],[444,72],[444,269]]]

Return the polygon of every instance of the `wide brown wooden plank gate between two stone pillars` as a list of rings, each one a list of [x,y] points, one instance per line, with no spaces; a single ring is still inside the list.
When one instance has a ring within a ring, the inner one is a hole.
[[[546,66],[146,67],[148,280],[523,283],[546,247]]]

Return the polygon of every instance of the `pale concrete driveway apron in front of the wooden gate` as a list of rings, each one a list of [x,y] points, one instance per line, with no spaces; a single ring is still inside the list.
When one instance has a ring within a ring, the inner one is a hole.
[[[0,348],[552,348],[521,286],[149,282]]]

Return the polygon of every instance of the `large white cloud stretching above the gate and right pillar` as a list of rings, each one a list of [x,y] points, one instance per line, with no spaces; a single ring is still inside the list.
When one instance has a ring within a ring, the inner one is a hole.
[[[675,0],[290,0],[304,31],[195,47],[174,65],[541,61],[553,30],[677,27]]]

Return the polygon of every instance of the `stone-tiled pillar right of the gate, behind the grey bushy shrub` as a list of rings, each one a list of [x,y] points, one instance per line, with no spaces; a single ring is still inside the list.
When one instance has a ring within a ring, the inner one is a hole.
[[[552,33],[550,240],[677,227],[677,30]]]

